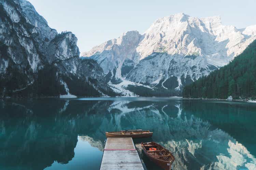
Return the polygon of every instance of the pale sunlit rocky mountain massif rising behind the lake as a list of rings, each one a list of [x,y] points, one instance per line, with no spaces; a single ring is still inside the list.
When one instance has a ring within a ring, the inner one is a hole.
[[[254,39],[256,25],[237,29],[223,26],[220,17],[179,13],[156,20],[143,35],[129,31],[82,55],[95,59],[115,87],[128,81],[180,91],[228,64]]]

